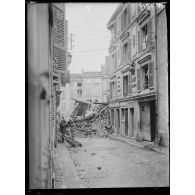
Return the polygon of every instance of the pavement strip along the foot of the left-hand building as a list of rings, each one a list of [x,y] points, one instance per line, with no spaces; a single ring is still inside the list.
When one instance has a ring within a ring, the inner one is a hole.
[[[58,143],[54,155],[55,188],[79,188],[79,178],[66,145]]]

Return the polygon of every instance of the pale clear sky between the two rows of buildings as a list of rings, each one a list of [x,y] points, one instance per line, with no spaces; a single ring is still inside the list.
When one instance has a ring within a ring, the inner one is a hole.
[[[108,55],[111,39],[106,24],[118,5],[118,3],[66,4],[69,35],[74,34],[70,73],[81,73],[82,69],[101,70],[101,64],[105,63],[105,56]]]

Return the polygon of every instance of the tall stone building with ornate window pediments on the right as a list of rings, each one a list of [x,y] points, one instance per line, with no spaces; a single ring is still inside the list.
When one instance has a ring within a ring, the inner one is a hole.
[[[147,141],[160,137],[167,145],[167,35],[166,30],[157,31],[167,28],[166,14],[163,6],[145,5],[121,3],[107,23],[111,122],[116,134]]]

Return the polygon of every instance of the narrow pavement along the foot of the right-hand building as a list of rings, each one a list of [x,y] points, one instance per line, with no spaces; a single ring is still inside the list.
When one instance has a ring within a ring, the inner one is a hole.
[[[146,150],[152,150],[154,152],[158,152],[162,154],[167,154],[167,155],[169,154],[168,147],[154,145],[154,142],[149,142],[149,141],[138,142],[134,138],[123,137],[121,135],[115,135],[115,134],[110,134],[108,135],[108,137],[114,140],[126,142],[127,144],[131,146],[136,146],[136,147],[143,148]]]

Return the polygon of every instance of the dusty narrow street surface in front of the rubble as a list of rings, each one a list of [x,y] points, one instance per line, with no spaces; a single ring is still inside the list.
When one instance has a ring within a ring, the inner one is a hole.
[[[71,157],[83,188],[169,186],[168,155],[109,138],[78,138]]]

